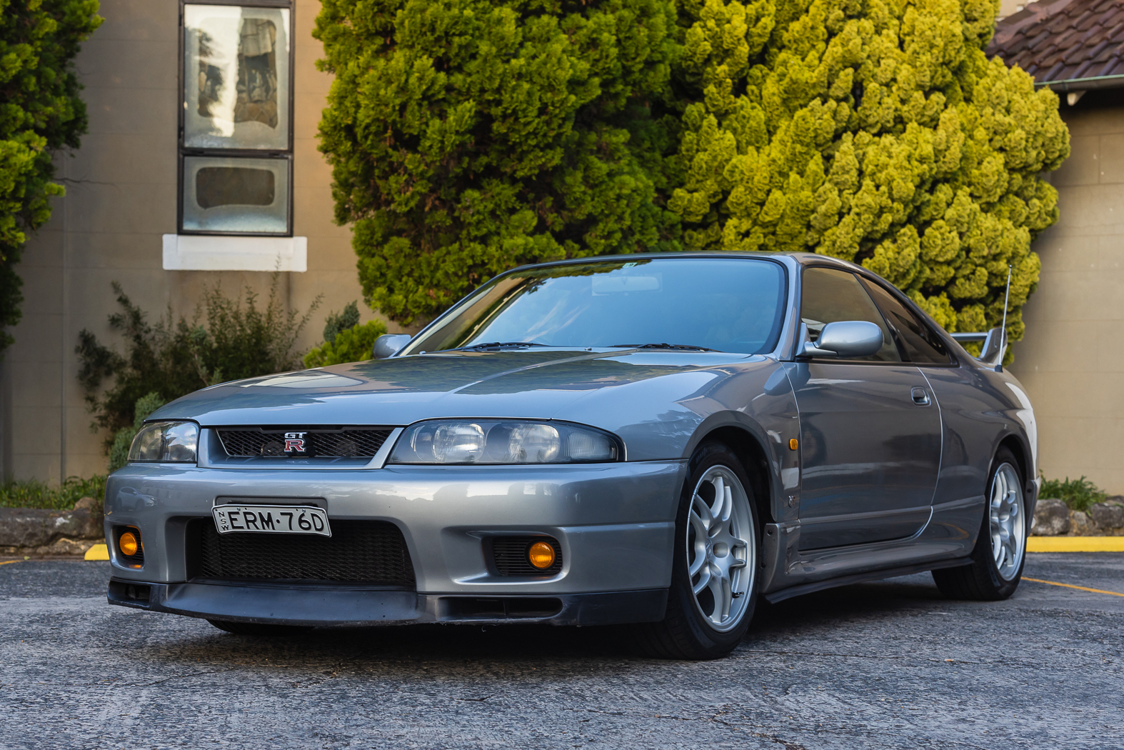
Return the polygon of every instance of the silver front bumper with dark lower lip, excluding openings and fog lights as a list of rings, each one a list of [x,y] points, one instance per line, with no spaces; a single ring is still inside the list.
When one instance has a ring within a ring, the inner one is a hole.
[[[130,464],[110,477],[106,532],[112,539],[117,525],[139,528],[144,564],[127,567],[110,551],[109,600],[301,624],[644,622],[662,616],[685,473],[682,461],[325,471]],[[225,497],[300,498],[321,505],[333,521],[393,523],[409,550],[416,590],[192,580],[188,523],[209,517]],[[489,571],[482,540],[523,532],[559,540],[558,575]],[[147,599],[126,596],[130,584],[146,587]]]

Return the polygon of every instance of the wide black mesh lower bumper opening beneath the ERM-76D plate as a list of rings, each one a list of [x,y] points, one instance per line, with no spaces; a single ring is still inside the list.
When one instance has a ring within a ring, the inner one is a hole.
[[[188,527],[192,577],[308,580],[414,588],[402,532],[386,521],[330,521],[332,536],[219,534],[211,518]]]

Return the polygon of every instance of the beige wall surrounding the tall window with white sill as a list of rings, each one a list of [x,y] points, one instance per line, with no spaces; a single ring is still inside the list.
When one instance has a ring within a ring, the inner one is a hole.
[[[0,470],[16,478],[57,481],[106,470],[74,346],[82,328],[120,346],[106,322],[116,308],[111,281],[154,315],[171,305],[189,317],[203,284],[221,281],[228,293],[269,288],[268,273],[162,269],[161,237],[175,233],[179,3],[102,0],[100,12],[106,22],[76,61],[90,130],[74,157],[57,160],[67,195],[26,247],[18,268],[24,319],[0,365]],[[351,233],[333,224],[332,173],[316,150],[330,83],[315,66],[323,55],[311,37],[318,12],[316,0],[297,0],[293,229],[308,237],[308,271],[283,274],[281,288],[300,310],[319,293],[326,298],[301,347],[320,341],[329,310],[362,299]],[[360,309],[372,317],[362,302]]]

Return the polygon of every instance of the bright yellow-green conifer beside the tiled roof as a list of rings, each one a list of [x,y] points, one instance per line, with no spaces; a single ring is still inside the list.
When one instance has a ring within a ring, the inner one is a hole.
[[[1057,220],[1058,98],[984,54],[997,0],[685,0],[690,250],[862,263],[949,331],[1007,329]]]

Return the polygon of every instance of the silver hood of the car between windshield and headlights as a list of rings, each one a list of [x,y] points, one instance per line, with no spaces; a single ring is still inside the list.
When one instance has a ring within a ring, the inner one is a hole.
[[[708,392],[737,372],[769,365],[776,362],[720,352],[445,352],[226,382],[176,399],[149,419],[194,419],[205,427],[566,419],[608,430],[626,443],[633,433],[645,443],[660,435],[680,443],[713,410]]]

